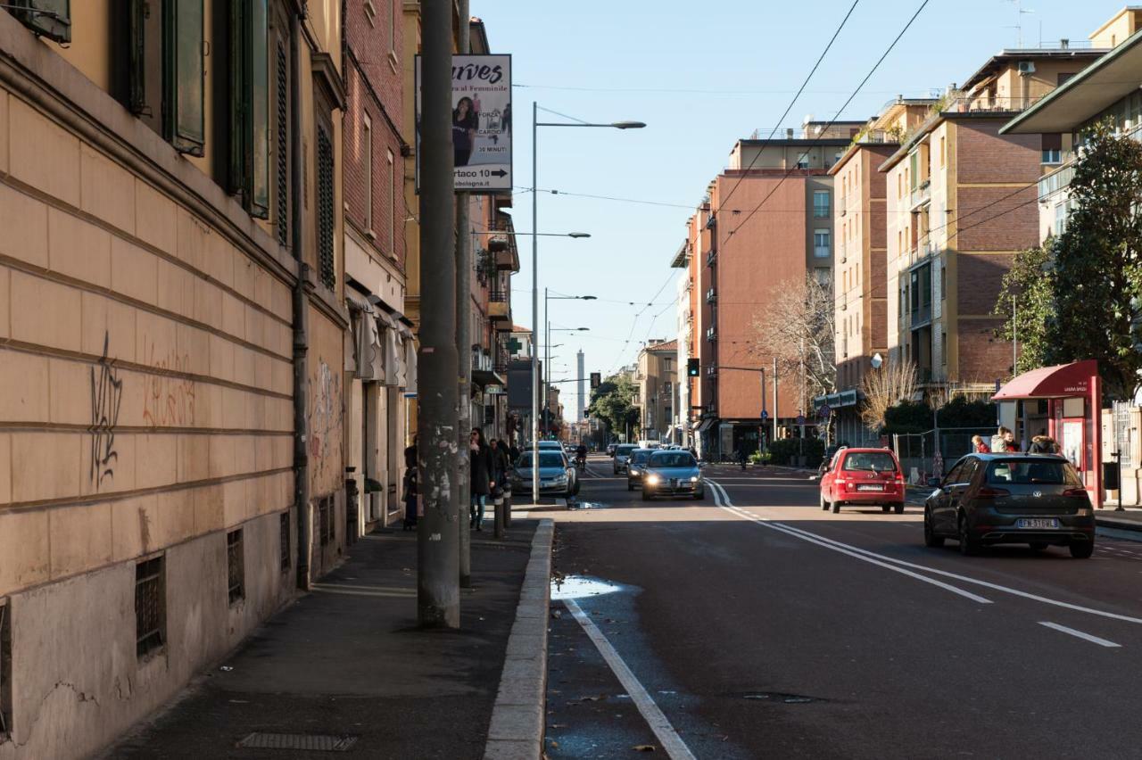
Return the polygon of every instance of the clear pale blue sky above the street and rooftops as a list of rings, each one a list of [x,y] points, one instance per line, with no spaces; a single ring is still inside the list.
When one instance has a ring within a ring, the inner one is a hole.
[[[600,300],[553,301],[553,379],[634,361],[648,338],[675,333],[676,270],[669,260],[707,183],[734,140],[775,126],[852,0],[471,0],[492,50],[513,55],[515,185],[531,185],[531,104],[586,121],[637,120],[646,129],[540,128],[539,187],[561,193],[652,201],[539,196],[539,232],[587,232],[589,240],[541,237],[539,286]],[[841,37],[781,123],[837,115],[853,89],[919,7],[920,0],[860,0]],[[1060,38],[1085,40],[1121,7],[1116,2],[930,0],[927,7],[839,114],[864,119],[898,94],[927,96],[963,82],[988,56]],[[1040,32],[1042,27],[1042,32]],[[541,121],[558,121],[541,113]],[[516,229],[530,232],[531,195],[517,189]],[[531,241],[521,238],[514,277],[516,324],[531,324]],[[669,282],[668,282],[669,281]],[[659,292],[660,288],[665,289]],[[656,293],[657,297],[656,297]],[[540,298],[542,293],[540,292]],[[636,305],[632,306],[630,301]],[[646,304],[653,306],[648,307]],[[542,309],[542,304],[540,304]],[[656,318],[657,317],[657,318]],[[564,402],[573,395],[564,386]]]

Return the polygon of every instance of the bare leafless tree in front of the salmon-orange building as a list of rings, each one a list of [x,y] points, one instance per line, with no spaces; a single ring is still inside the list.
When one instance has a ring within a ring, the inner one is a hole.
[[[750,349],[759,357],[775,357],[779,375],[797,377],[806,401],[835,393],[833,291],[812,275],[774,285],[754,317]]]

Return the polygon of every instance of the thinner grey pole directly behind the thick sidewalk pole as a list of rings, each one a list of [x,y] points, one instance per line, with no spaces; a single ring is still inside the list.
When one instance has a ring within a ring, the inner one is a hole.
[[[471,52],[472,24],[468,23],[468,0],[459,0],[460,52]],[[451,79],[449,80],[451,87]],[[451,106],[449,91],[449,106]],[[472,585],[472,533],[468,531],[469,495],[468,436],[472,434],[472,224],[468,219],[468,194],[456,194],[456,357],[460,363],[457,410],[456,458],[456,527],[459,531],[460,587]]]

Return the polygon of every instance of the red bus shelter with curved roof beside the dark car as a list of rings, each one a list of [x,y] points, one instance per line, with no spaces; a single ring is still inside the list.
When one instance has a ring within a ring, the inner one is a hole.
[[[1049,435],[1102,509],[1102,381],[1094,359],[1045,366],[1012,378],[991,401],[1046,399]],[[1016,406],[1018,411],[1018,406]]]

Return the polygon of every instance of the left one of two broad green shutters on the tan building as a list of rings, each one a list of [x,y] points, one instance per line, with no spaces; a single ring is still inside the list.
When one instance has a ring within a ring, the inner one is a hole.
[[[206,145],[202,18],[202,0],[163,5],[167,139],[176,151],[191,155],[203,155]]]

